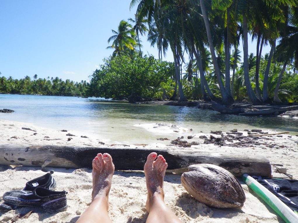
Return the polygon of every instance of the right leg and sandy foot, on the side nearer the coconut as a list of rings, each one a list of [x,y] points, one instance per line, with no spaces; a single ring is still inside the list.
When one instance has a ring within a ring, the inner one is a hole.
[[[157,153],[150,153],[144,166],[148,191],[146,209],[149,212],[146,223],[181,223],[164,203],[163,185],[167,163],[162,155],[156,157]]]

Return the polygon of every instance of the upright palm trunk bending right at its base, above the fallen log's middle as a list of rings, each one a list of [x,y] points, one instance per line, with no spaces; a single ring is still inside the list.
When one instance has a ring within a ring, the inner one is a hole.
[[[249,71],[248,71],[248,40],[247,40],[247,18],[245,13],[243,13],[243,70],[244,70],[244,82],[246,86],[246,91],[249,99],[253,104],[260,104],[261,101],[257,98],[252,90],[252,85],[250,85]]]

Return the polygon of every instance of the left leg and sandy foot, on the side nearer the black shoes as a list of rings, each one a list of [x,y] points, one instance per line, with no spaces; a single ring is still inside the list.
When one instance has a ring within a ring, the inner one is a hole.
[[[77,223],[111,223],[108,216],[108,198],[114,174],[112,157],[98,153],[92,161],[92,202]]]

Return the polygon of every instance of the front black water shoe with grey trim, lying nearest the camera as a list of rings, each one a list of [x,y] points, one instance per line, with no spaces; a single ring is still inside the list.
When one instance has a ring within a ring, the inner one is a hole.
[[[17,207],[38,207],[49,213],[67,209],[66,191],[51,191],[37,187],[33,191],[8,191],[3,200]]]

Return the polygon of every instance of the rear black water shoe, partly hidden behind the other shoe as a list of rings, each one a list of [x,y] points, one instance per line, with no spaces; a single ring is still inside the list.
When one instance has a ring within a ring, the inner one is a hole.
[[[52,174],[54,173],[53,170],[46,173],[45,175],[35,178],[33,180],[30,180],[26,183],[26,186],[24,187],[23,191],[33,191],[37,187],[43,187],[49,190],[54,190],[56,188],[56,181],[52,177]],[[7,202],[3,202],[0,205],[1,211],[10,211],[14,210],[17,207],[15,205],[11,205]]]

